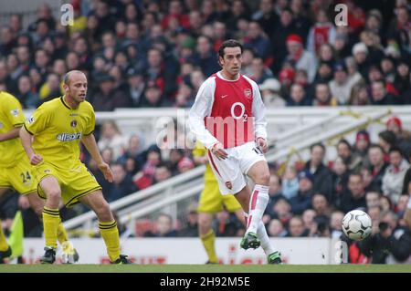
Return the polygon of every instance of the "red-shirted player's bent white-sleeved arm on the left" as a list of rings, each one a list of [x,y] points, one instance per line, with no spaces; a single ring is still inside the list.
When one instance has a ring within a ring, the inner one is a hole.
[[[212,109],[213,91],[216,87],[215,81],[208,78],[198,89],[195,103],[188,114],[188,125],[195,133],[195,137],[205,148],[213,151],[218,159],[226,159],[227,152],[223,145],[205,128],[204,118]]]

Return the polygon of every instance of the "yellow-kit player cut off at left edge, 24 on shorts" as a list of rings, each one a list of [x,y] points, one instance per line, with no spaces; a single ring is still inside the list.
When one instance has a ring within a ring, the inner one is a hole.
[[[33,176],[32,165],[18,140],[18,132],[24,122],[25,117],[18,99],[9,93],[0,92],[0,200],[13,189],[25,196],[23,199],[28,200],[41,220],[44,201],[37,195],[37,182]],[[79,255],[68,242],[68,235],[59,217],[57,235],[58,242],[63,248],[63,262],[77,262]],[[12,250],[0,226],[0,264],[10,255]]]

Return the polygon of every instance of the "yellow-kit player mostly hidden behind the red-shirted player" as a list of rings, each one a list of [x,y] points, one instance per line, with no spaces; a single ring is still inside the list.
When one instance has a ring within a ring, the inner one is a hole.
[[[222,195],[218,188],[218,182],[213,170],[208,163],[207,150],[197,141],[193,150],[193,158],[196,164],[205,164],[204,189],[200,194],[198,203],[198,232],[208,256],[207,264],[218,264],[216,255],[216,234],[211,228],[213,216],[226,209],[229,213],[236,213],[238,219],[244,223],[241,205],[233,195]]]

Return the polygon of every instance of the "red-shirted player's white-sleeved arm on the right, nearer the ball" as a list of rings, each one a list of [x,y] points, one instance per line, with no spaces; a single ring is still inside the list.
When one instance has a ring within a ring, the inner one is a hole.
[[[267,121],[266,121],[266,107],[261,99],[258,85],[253,84],[253,117],[254,117],[254,129],[256,133],[256,141],[258,146],[263,152],[269,151],[269,145],[267,143]]]

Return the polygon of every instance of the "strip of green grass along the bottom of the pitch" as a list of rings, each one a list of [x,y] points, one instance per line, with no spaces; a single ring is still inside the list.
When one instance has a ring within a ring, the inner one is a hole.
[[[411,273],[411,265],[0,265],[0,273]]]

